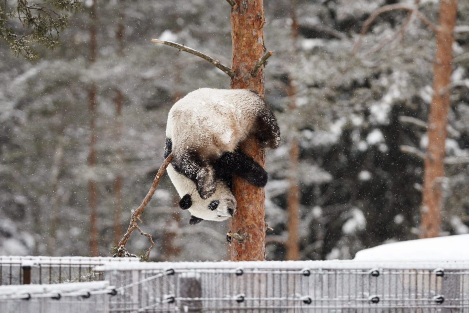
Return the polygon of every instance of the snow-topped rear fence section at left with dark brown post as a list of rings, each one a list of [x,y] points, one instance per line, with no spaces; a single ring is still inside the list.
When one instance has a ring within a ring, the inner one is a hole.
[[[93,268],[110,262],[139,262],[138,258],[0,256],[0,286],[102,281]]]

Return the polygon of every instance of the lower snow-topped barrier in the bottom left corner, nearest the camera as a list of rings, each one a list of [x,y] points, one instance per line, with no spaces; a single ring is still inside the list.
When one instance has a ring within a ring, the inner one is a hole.
[[[2,313],[107,313],[109,282],[0,286]]]

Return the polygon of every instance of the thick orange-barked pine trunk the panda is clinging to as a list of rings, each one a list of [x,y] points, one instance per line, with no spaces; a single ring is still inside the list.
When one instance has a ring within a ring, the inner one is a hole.
[[[250,71],[265,52],[263,0],[236,0],[232,8],[233,89],[249,89],[264,96],[264,74],[262,69],[255,77]],[[265,152],[258,141],[250,137],[241,144],[241,149],[256,162],[264,166]],[[233,261],[255,261],[265,259],[265,193],[263,188],[250,185],[234,177],[234,196],[237,211],[232,218],[231,230],[244,240],[232,242]]]

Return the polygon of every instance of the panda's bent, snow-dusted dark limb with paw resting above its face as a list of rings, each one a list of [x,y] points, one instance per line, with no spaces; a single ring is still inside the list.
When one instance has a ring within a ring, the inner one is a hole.
[[[215,172],[197,153],[185,151],[172,163],[177,171],[196,183],[197,192],[202,199],[207,199],[215,193]]]

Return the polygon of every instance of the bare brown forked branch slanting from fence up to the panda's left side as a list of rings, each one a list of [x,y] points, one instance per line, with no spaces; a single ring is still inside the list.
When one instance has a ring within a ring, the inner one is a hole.
[[[127,241],[129,240],[130,235],[132,234],[134,229],[138,230],[140,234],[144,235],[150,240],[151,247],[145,251],[145,257],[148,258],[150,256],[150,251],[155,246],[155,243],[153,242],[152,236],[142,231],[142,229],[138,226],[137,220],[142,221],[140,219],[140,215],[143,213],[143,211],[145,211],[147,204],[152,199],[153,194],[155,193],[155,190],[158,187],[158,184],[160,183],[161,177],[165,173],[168,165],[171,163],[171,160],[173,160],[173,153],[170,153],[170,155],[168,155],[168,157],[165,159],[163,164],[161,164],[160,169],[158,170],[158,173],[156,173],[155,179],[153,180],[153,184],[150,190],[148,191],[147,195],[143,199],[142,203],[140,204],[140,206],[136,210],[132,210],[132,216],[130,217],[129,228],[127,229],[127,232],[124,234],[124,237],[122,237],[119,244],[117,245],[117,252],[114,255],[114,257],[120,258],[124,256],[125,252],[127,252],[127,250],[125,249],[125,245],[127,244]]]

